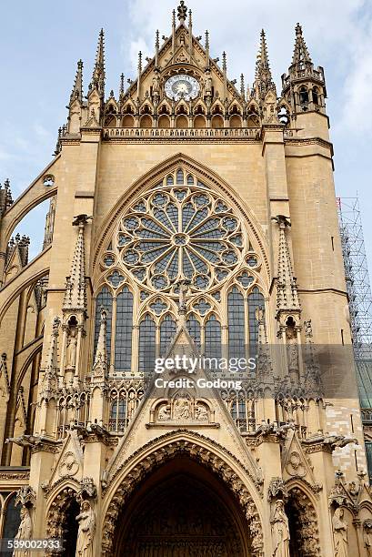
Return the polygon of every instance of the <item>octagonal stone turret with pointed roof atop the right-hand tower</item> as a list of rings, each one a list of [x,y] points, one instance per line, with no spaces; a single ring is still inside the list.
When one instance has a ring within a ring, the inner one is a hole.
[[[321,66],[314,68],[299,24],[296,26],[292,64],[289,66],[288,75],[282,76],[282,86],[282,96],[286,98],[295,114],[307,111],[323,114],[326,112],[327,91],[324,70]]]

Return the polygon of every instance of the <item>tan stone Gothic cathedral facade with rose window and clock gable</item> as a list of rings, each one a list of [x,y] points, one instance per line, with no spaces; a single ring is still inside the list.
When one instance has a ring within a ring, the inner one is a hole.
[[[264,32],[236,84],[184,2],[117,96],[104,50],[101,31],[52,162],[15,201],[0,188],[0,537],[372,555],[326,82],[301,26],[280,95]],[[45,199],[28,263],[12,232]],[[216,362],[252,354],[234,388]],[[156,374],[180,355],[213,360],[194,376],[214,386],[188,388],[185,360]]]

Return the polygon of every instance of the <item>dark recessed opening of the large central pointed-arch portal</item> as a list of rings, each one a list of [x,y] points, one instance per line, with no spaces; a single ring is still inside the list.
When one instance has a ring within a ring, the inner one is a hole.
[[[136,490],[116,523],[116,557],[249,557],[246,519],[205,467],[177,456]]]

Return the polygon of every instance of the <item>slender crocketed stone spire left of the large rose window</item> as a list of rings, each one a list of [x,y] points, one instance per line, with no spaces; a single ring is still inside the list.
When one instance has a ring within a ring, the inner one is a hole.
[[[73,222],[79,231],[70,276],[66,280],[63,309],[86,311],[84,228],[88,218],[87,215],[78,215]]]

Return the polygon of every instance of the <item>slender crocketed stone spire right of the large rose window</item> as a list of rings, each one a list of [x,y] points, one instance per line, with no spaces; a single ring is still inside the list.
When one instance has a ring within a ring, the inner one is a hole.
[[[287,315],[298,313],[300,305],[298,301],[296,277],[294,277],[292,262],[287,244],[286,229],[290,223],[284,215],[273,217],[279,227],[279,249],[277,264],[277,286],[276,286],[276,309],[278,317],[281,312]]]

